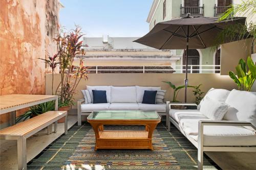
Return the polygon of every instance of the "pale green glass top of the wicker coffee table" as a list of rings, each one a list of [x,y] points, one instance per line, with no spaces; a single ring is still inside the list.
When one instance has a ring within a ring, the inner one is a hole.
[[[160,119],[160,116],[156,111],[106,110],[93,111],[87,118],[90,120],[155,120]]]

